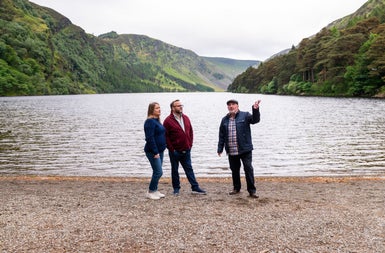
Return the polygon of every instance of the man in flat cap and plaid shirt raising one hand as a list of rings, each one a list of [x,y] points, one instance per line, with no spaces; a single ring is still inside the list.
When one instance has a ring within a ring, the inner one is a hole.
[[[249,112],[239,111],[237,100],[231,99],[227,101],[229,113],[222,118],[219,127],[217,153],[221,156],[223,148],[225,148],[228,154],[233,179],[233,190],[229,193],[230,195],[240,193],[240,169],[242,161],[249,196],[258,198],[254,182],[254,168],[252,165],[253,143],[251,140],[250,124],[255,124],[260,121],[259,103],[260,100],[254,103],[252,106],[253,114],[250,114]]]

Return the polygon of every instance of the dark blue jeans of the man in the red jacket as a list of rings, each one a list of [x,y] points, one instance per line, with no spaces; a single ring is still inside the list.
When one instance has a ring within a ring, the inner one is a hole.
[[[195,190],[199,188],[199,184],[195,179],[194,171],[191,165],[191,151],[174,151],[168,152],[170,156],[171,163],[171,179],[172,179],[172,187],[174,189],[180,189],[180,179],[179,179],[179,163],[182,165],[184,172],[188,181],[191,184],[191,189]]]

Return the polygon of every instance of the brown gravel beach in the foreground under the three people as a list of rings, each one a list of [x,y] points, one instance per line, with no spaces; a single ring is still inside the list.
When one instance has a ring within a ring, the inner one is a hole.
[[[385,177],[149,180],[0,176],[1,252],[385,252]]]

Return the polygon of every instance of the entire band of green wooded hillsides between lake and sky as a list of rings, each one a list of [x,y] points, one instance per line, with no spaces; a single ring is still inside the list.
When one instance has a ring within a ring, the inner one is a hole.
[[[227,89],[349,97],[385,97],[385,1],[369,0],[239,75],[240,61],[226,61],[144,35],[94,36],[52,9],[0,1],[0,96]]]

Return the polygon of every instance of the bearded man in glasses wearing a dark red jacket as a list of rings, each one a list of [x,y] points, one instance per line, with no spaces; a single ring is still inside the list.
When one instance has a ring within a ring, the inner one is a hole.
[[[206,191],[199,187],[195,179],[191,165],[191,148],[193,144],[193,129],[190,119],[183,114],[183,105],[180,100],[174,100],[170,104],[171,113],[164,120],[166,128],[166,142],[171,163],[171,179],[174,195],[179,194],[180,180],[178,167],[182,165],[186,177],[191,184],[193,194],[206,194]]]

